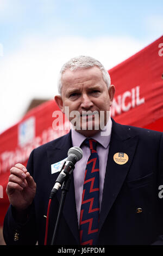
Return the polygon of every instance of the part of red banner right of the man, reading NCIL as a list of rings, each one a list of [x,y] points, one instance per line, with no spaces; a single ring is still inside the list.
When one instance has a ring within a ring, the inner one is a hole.
[[[163,36],[109,74],[116,87],[112,106],[115,121],[147,127],[163,117]],[[162,127],[159,130],[163,131]]]

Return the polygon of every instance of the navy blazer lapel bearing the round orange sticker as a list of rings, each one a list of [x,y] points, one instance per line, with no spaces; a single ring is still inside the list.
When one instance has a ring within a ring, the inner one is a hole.
[[[137,135],[132,138],[127,127],[121,126],[121,124],[117,124],[112,120],[111,140],[106,164],[102,206],[99,216],[99,231],[127,176],[134,157],[137,141]],[[127,163],[120,165],[114,161],[114,154],[118,152],[128,155],[129,159]]]

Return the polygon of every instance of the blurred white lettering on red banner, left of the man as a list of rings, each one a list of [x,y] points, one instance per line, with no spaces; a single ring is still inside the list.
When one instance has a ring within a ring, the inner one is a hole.
[[[66,131],[67,132],[67,131]],[[20,148],[15,148],[13,151],[4,151],[0,155],[0,174],[2,172],[9,171],[11,166],[16,163],[24,163],[29,158],[30,153],[36,147],[41,146],[49,141],[57,139],[58,137],[66,134],[65,130],[53,130],[49,127],[47,130],[43,130],[41,136],[36,136],[33,142]]]

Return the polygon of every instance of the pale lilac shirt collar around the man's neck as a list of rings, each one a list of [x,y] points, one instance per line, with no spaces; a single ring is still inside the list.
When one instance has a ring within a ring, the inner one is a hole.
[[[112,121],[109,117],[109,121],[104,127],[104,129],[97,133],[96,135],[92,136],[92,139],[95,139],[99,142],[104,148],[107,148],[110,143],[110,137],[111,137],[111,129],[112,129]],[[72,135],[72,145],[80,147],[83,143],[83,141],[86,139],[86,136],[83,134],[78,133],[73,128],[71,129],[71,135]]]

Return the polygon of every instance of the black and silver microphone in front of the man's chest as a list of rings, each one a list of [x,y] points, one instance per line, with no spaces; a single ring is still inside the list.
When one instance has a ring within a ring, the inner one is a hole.
[[[74,165],[83,157],[83,151],[80,147],[71,147],[67,153],[68,157],[65,163],[62,165],[61,172],[58,175],[57,180],[55,181],[54,187],[52,188],[50,199],[53,198],[53,195],[57,193],[62,183],[70,176],[74,170]]]

